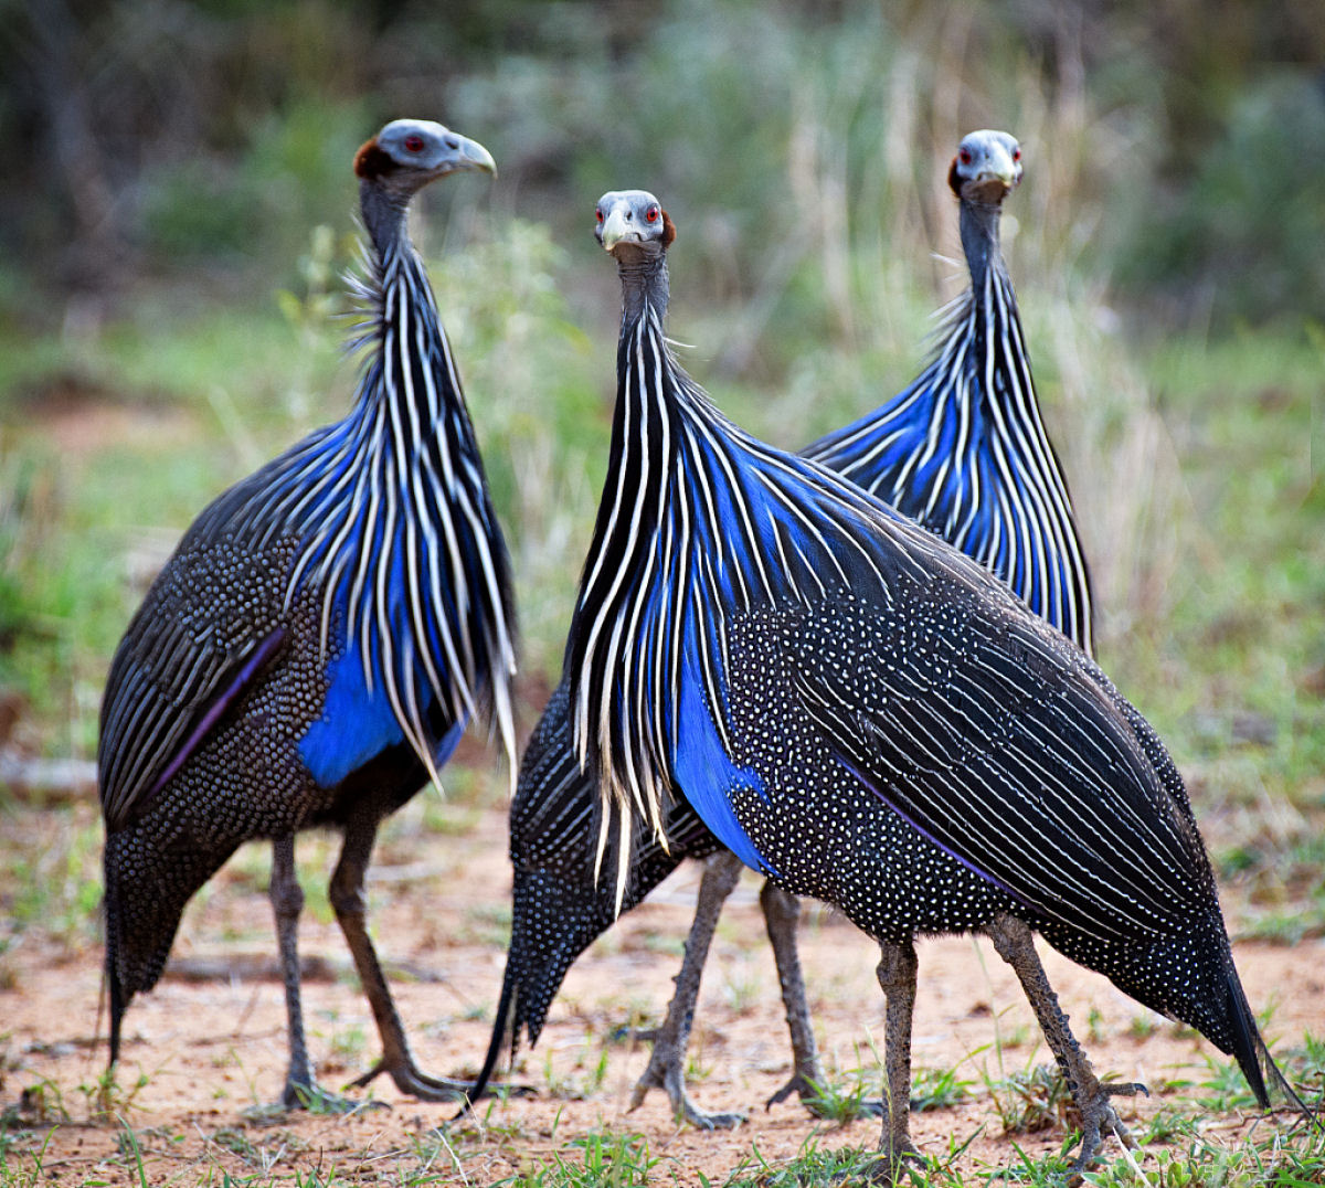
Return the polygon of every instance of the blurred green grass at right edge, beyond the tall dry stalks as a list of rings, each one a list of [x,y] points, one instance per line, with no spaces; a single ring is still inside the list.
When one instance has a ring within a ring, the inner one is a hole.
[[[1198,815],[1325,803],[1320,358],[1302,336],[1239,334],[1175,336],[1145,360],[1181,466],[1183,530],[1170,605],[1137,621],[1106,668],[1170,744]],[[1230,845],[1255,841],[1232,824]],[[1318,836],[1318,822],[1302,832]]]

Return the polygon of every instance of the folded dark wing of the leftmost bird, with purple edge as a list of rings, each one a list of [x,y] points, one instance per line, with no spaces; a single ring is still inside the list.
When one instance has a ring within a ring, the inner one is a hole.
[[[186,538],[158,575],[102,699],[97,766],[110,832],[142,811],[280,653],[288,552]]]

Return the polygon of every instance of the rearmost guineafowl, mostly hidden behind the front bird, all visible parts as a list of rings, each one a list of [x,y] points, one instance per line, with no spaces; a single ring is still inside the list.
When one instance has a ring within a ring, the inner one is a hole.
[[[1002,577],[1086,652],[1092,648],[1090,583],[1067,482],[1044,430],[1016,297],[999,248],[1003,199],[1020,183],[1022,148],[1007,132],[965,136],[949,171],[970,287],[945,311],[938,347],[920,376],[878,409],[810,445],[806,457],[848,475]],[[598,789],[574,755],[564,682],[553,694],[519,771],[511,808],[514,866],[511,944],[504,1009],[488,1070],[504,1038],[530,1042],[576,956],[613,923],[615,890],[595,882],[591,821]],[[621,902],[633,907],[684,858],[709,857],[685,963],[648,1067],[635,1091],[664,1087],[673,1110],[698,1126],[739,1114],[706,1114],[685,1091],[684,1057],[700,975],[718,914],[742,864],[719,846],[690,807],[672,805],[668,849],[636,829]],[[778,959],[794,1074],[770,1101],[792,1091],[815,1109],[823,1071],[796,955],[795,897],[766,882],[761,893]],[[480,1077],[480,1083],[485,1083]]]

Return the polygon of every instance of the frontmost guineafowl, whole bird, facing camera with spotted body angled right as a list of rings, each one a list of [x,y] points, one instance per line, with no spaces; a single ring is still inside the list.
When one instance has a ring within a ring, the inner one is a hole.
[[[726,420],[664,336],[672,221],[607,193],[624,311],[603,501],[566,646],[617,897],[631,830],[686,800],[746,865],[881,948],[888,1115],[910,1142],[914,938],[979,930],[1084,1119],[1130,1142],[1034,931],[1305,1110],[1256,1028],[1182,779],[1094,662],[998,579],[836,473]]]

